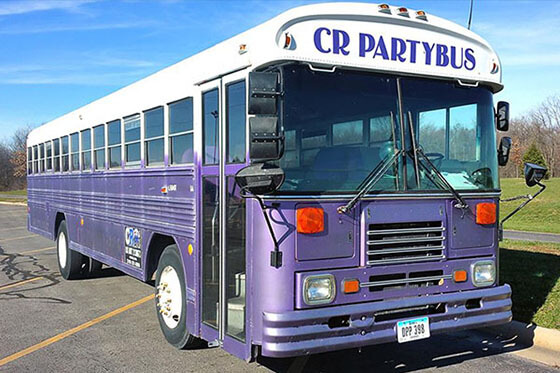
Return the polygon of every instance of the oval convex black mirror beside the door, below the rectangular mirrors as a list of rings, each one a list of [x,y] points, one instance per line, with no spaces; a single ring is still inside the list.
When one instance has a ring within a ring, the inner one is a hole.
[[[284,183],[284,170],[267,163],[257,163],[242,168],[235,175],[235,182],[251,194],[269,194]]]

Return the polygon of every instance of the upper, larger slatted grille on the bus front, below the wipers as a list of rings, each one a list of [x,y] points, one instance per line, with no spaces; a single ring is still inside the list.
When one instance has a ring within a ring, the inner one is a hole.
[[[367,264],[414,263],[445,258],[441,221],[370,224]]]

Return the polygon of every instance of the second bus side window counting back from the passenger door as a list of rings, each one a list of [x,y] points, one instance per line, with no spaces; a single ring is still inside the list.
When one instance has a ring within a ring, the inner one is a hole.
[[[144,112],[144,138],[146,166],[162,165],[164,153],[163,107]]]

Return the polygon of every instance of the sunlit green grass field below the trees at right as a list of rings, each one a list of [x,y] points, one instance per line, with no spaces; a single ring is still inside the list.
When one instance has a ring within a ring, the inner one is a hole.
[[[560,178],[545,180],[546,190],[504,224],[504,229],[560,233]],[[524,179],[501,179],[502,198],[520,194],[535,194],[539,187],[529,188]],[[505,217],[523,200],[500,204],[500,216]]]

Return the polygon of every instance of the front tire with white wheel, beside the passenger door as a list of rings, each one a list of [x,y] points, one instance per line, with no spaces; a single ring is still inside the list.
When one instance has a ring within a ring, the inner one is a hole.
[[[187,329],[186,282],[177,245],[163,250],[155,285],[157,317],[165,339],[179,349],[198,346],[199,340]]]

